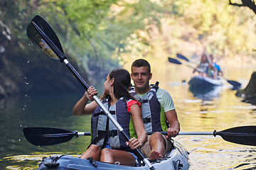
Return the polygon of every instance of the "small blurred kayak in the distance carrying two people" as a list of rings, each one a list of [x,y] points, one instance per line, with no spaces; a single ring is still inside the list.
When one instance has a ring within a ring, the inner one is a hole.
[[[189,86],[194,87],[211,87],[211,86],[222,86],[225,83],[225,79],[211,79],[208,77],[195,76],[188,81]]]

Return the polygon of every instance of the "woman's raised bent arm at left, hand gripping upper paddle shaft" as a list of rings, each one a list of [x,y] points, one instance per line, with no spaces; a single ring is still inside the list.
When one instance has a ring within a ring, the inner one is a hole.
[[[78,103],[75,104],[75,107],[73,108],[73,114],[78,116],[91,115],[97,107],[97,103],[93,101],[92,96],[95,96],[97,94],[97,90],[94,87],[90,86],[89,89],[85,91],[84,96],[82,96]],[[92,102],[87,104],[89,100]]]

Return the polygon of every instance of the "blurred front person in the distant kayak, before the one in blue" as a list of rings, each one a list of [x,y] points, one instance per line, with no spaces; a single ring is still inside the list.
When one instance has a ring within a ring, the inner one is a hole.
[[[216,69],[212,64],[209,64],[209,62],[206,54],[203,54],[200,64],[193,70],[193,73],[198,71],[199,75],[202,77],[217,79]]]

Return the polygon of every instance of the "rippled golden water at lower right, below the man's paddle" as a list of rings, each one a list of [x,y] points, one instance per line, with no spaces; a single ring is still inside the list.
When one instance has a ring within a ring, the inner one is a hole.
[[[190,169],[255,169],[255,147],[236,145],[223,141],[221,137],[210,136],[184,137],[179,141],[190,150]]]

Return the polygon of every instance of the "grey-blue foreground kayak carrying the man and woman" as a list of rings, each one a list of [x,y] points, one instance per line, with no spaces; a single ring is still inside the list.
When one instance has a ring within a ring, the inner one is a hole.
[[[188,152],[186,149],[178,142],[172,140],[173,149],[166,154],[166,158],[164,159],[156,159],[151,164],[155,169],[159,170],[187,170],[190,166],[190,162],[188,159]],[[68,155],[59,155],[54,157],[44,158],[43,162],[39,165],[38,170],[57,170],[57,169],[65,169],[65,170],[97,170],[97,169],[109,169],[109,170],[133,170],[133,169],[143,169],[148,170],[149,167],[142,166],[124,166],[119,165],[119,162],[115,164],[109,164],[105,162],[97,162],[92,159],[80,159],[78,157],[72,157]],[[142,162],[143,163],[143,162]]]

